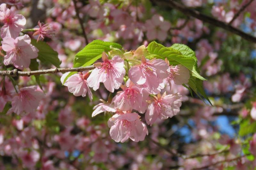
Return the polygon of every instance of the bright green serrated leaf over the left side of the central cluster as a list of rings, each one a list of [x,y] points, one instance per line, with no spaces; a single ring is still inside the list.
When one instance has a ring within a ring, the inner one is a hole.
[[[92,65],[95,61],[100,59],[103,51],[108,52],[111,50],[110,46],[112,46],[113,48],[122,48],[120,44],[114,42],[105,42],[101,40],[94,40],[90,42],[84,47],[84,49],[76,54],[73,62],[74,67],[85,67]],[[64,79],[64,83],[71,75],[75,73],[76,72],[70,72],[68,76]]]

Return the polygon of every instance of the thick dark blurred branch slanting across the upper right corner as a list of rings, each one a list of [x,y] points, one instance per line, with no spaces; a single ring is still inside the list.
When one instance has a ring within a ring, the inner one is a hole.
[[[151,0],[151,1],[153,1],[155,4],[158,4],[159,6],[165,5],[165,6],[169,6],[170,8],[179,10],[180,12],[182,12],[184,15],[186,15],[188,17],[197,18],[197,19],[202,20],[206,23],[209,23],[213,26],[223,28],[231,33],[239,35],[247,41],[256,43],[256,37],[254,37],[250,34],[244,33],[243,31],[241,31],[233,26],[230,26],[225,22],[219,21],[219,20],[209,17],[207,15],[204,15],[204,14],[200,13],[199,11],[192,10],[192,9],[190,9],[182,4],[179,4],[173,0]]]

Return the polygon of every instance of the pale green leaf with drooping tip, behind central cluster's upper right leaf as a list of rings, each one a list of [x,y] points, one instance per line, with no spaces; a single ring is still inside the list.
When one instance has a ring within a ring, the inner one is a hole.
[[[169,47],[170,48],[170,47]],[[196,63],[195,65],[193,66],[193,69],[191,70],[192,71],[192,76],[195,76],[196,78],[199,78],[201,80],[206,80],[205,78],[203,78],[199,73],[199,70],[198,70],[198,67],[197,67],[197,58],[196,58],[196,53],[195,51],[193,51],[191,48],[189,48],[188,46],[186,46],[185,44],[173,44],[171,46],[171,48],[174,48],[178,51],[180,51],[180,53],[182,55],[185,55],[187,57],[190,57],[190,58],[193,58]]]

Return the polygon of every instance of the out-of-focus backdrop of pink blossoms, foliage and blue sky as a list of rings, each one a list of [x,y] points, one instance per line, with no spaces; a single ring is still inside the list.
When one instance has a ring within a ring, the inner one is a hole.
[[[61,68],[73,67],[76,53],[86,41],[96,39],[117,42],[128,51],[151,41],[164,46],[186,44],[196,52],[200,74],[207,79],[204,90],[213,105],[184,86],[173,84],[171,91],[164,90],[182,94],[180,113],[148,126],[144,141],[116,143],[107,126],[111,114],[91,116],[99,99],[108,99],[104,86],[93,92],[90,101],[88,96],[75,97],[68,92],[60,82],[61,73],[41,75],[46,97],[35,113],[6,115],[11,107],[7,103],[0,114],[0,169],[255,168],[256,41],[230,31],[230,27],[256,36],[256,1],[0,2],[15,6],[27,19],[27,29],[37,26],[39,20],[51,27],[53,32],[44,41],[58,52]],[[195,18],[171,2],[214,20]],[[224,26],[216,25],[215,20]],[[39,65],[40,70],[51,67],[43,62]],[[35,77],[15,80],[21,87],[37,84]],[[20,155],[20,148],[26,148],[29,154]]]

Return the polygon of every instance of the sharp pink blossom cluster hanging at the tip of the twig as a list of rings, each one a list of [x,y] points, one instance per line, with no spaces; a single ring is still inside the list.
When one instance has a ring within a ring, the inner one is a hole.
[[[128,52],[129,53],[129,52]],[[152,126],[158,119],[167,119],[179,113],[181,95],[166,94],[164,81],[171,88],[173,81],[177,85],[188,83],[189,71],[183,65],[170,66],[169,61],[153,58],[147,59],[147,48],[140,46],[130,56],[102,53],[102,63],[94,63],[94,70],[86,73],[76,73],[64,79],[68,73],[61,77],[62,84],[68,86],[69,92],[75,96],[85,96],[88,92],[90,100],[93,90],[99,89],[102,82],[105,88],[116,95],[108,101],[94,107],[92,116],[102,112],[113,112],[115,115],[108,120],[110,136],[116,142],[124,142],[128,138],[133,141],[144,140],[148,130],[141,122],[140,114],[145,113],[148,125]],[[119,88],[122,91],[115,92]],[[161,95],[161,92],[163,95]],[[157,96],[156,96],[157,95]],[[135,113],[137,111],[138,113]]]

